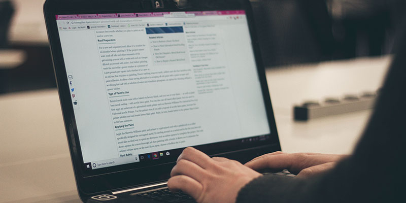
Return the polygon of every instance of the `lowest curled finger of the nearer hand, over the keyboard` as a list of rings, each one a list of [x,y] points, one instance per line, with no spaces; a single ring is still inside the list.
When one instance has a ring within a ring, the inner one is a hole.
[[[199,199],[200,195],[202,194],[203,185],[193,178],[180,175],[174,176],[168,180],[168,188],[173,192],[182,190],[183,192],[188,193],[194,199]]]

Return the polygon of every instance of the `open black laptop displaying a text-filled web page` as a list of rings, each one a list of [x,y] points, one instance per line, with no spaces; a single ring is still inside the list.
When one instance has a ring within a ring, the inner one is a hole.
[[[82,201],[194,202],[166,187],[184,148],[281,150],[249,1],[47,0],[44,15]]]

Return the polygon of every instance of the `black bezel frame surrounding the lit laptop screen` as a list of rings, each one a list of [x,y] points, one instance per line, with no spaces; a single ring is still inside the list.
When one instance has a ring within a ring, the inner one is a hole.
[[[198,2],[198,1],[196,1]],[[218,11],[218,10],[245,10],[249,31],[252,40],[252,46],[255,56],[255,62],[257,64],[258,77],[260,80],[262,95],[264,99],[266,115],[268,118],[268,125],[272,136],[267,142],[260,143],[260,145],[247,146],[243,150],[260,152],[260,154],[266,152],[272,152],[281,150],[279,145],[279,138],[276,129],[275,118],[273,114],[272,104],[270,102],[269,90],[265,78],[265,70],[262,65],[260,57],[260,51],[258,46],[258,40],[255,35],[255,28],[253,25],[253,15],[248,1],[224,1],[222,3],[209,4],[196,4],[191,5],[186,9],[176,8],[170,1],[164,1],[166,6],[164,9],[147,9],[144,8],[145,4],[151,3],[151,1],[66,1],[66,0],[48,0],[44,5],[44,15],[47,23],[48,37],[51,46],[52,59],[54,63],[55,77],[57,81],[60,103],[62,108],[63,119],[66,128],[67,139],[71,151],[72,164],[74,166],[74,172],[76,176],[77,186],[80,193],[94,194],[100,191],[108,191],[119,188],[126,188],[135,185],[143,185],[147,183],[164,181],[169,177],[171,168],[175,165],[175,161],[169,163],[154,164],[142,168],[128,167],[123,170],[110,170],[105,168],[103,173],[88,172],[83,168],[83,157],[80,148],[80,142],[78,137],[78,130],[76,127],[76,120],[72,107],[68,82],[66,79],[66,69],[64,65],[61,43],[58,34],[58,28],[56,24],[55,15],[66,14],[89,14],[89,13],[143,13],[143,12],[174,12],[174,11]],[[216,1],[213,1],[216,2]],[[232,4],[231,4],[232,3]],[[126,9],[121,9],[126,8]],[[68,102],[69,101],[69,102]],[[230,142],[230,141],[227,141]],[[224,146],[225,143],[216,143],[211,145]],[[207,145],[205,145],[207,146]],[[205,149],[205,146],[198,146],[198,149]],[[223,147],[224,148],[224,147]],[[265,149],[265,150],[264,150]],[[181,149],[180,149],[181,150]],[[205,151],[210,155],[222,154],[223,156],[231,155],[233,153],[241,152],[240,149],[225,149],[225,150],[209,150]],[[179,152],[180,153],[180,152]],[[253,153],[255,154],[255,153]],[[258,154],[258,153],[256,153]],[[246,161],[250,158],[249,155],[242,157],[233,157],[239,161]],[[117,168],[117,167],[115,167]],[[150,175],[150,176],[146,176]]]

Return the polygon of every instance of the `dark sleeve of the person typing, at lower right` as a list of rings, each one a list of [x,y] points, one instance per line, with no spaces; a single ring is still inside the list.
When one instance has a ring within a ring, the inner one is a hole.
[[[406,202],[406,41],[399,45],[351,157],[313,178],[255,179],[236,202]]]

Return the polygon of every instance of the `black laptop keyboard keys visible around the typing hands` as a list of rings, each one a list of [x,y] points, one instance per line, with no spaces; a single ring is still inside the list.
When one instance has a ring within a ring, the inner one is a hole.
[[[264,174],[270,174],[270,173],[264,173]],[[295,175],[289,173],[287,170],[283,170],[278,173],[272,173],[274,175],[280,175],[280,176],[289,176],[289,177],[295,177]],[[193,200],[193,197],[183,193],[183,192],[171,192],[168,188],[160,189],[160,190],[154,190],[154,191],[149,191],[145,193],[140,193],[137,194],[137,196],[148,198],[148,199],[153,199],[156,200],[157,202],[168,202],[168,203],[177,203],[177,202],[195,202]]]

